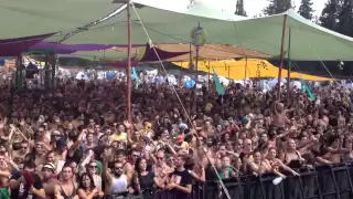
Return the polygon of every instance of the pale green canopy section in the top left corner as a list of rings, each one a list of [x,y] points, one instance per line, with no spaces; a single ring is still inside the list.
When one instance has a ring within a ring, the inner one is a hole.
[[[0,39],[65,33],[100,20],[120,6],[111,0],[1,0]]]

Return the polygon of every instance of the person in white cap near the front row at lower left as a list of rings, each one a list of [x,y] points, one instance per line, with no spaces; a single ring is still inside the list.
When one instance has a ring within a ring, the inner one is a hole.
[[[43,187],[45,196],[49,198],[55,197],[55,186],[58,180],[55,178],[55,167],[53,164],[47,163],[42,168],[43,171]]]

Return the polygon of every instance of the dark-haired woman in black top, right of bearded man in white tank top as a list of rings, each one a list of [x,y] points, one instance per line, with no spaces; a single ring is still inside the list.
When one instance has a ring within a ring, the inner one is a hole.
[[[135,164],[133,189],[142,193],[145,199],[153,198],[154,185],[159,185],[154,172],[147,166],[145,158],[138,158]]]

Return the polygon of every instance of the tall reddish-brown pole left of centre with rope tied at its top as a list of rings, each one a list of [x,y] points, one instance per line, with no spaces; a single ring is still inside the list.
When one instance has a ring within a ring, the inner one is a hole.
[[[128,0],[127,17],[128,17],[128,69],[127,69],[127,119],[131,124],[131,15],[130,1]]]

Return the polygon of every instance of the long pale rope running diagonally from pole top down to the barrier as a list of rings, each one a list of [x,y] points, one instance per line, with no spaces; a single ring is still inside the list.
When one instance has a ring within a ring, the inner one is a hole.
[[[146,28],[145,28],[145,24],[143,24],[143,22],[142,22],[140,15],[139,15],[139,13],[137,12],[137,10],[136,10],[136,8],[135,8],[133,1],[130,1],[130,3],[131,3],[131,6],[132,6],[132,9],[133,9],[133,11],[135,11],[138,20],[139,20],[140,23],[141,23],[141,27],[142,27],[142,29],[143,29],[143,31],[145,31],[145,33],[146,33],[146,36],[148,38],[149,43],[151,44],[151,46],[152,46],[152,49],[153,49],[153,51],[154,51],[154,53],[156,53],[156,56],[158,57],[159,63],[161,64],[161,66],[162,66],[162,69],[163,69],[163,72],[165,73],[165,75],[168,75],[168,72],[167,72],[167,70],[165,70],[165,66],[164,66],[162,60],[160,59],[160,56],[159,56],[156,48],[153,46],[152,40],[151,40],[149,33],[147,32],[147,30],[146,30]],[[195,126],[193,126],[193,124],[192,124],[191,117],[190,117],[189,113],[186,112],[186,109],[185,109],[185,107],[184,107],[184,105],[183,105],[183,103],[182,103],[182,101],[181,101],[181,98],[180,98],[180,96],[179,96],[179,94],[178,94],[178,92],[176,92],[176,90],[175,90],[175,86],[172,84],[171,87],[172,87],[173,92],[175,93],[176,98],[178,98],[181,107],[183,108],[183,111],[184,111],[184,113],[185,113],[185,115],[186,115],[186,117],[188,117],[188,121],[190,122],[191,126],[192,126],[194,129],[196,129]],[[197,135],[197,134],[196,134],[196,138],[199,139],[199,135]],[[228,192],[227,188],[225,187],[225,185],[224,185],[223,181],[222,181],[222,178],[221,178],[217,169],[215,168],[214,164],[212,164],[212,161],[210,160],[210,157],[208,157],[208,155],[207,155],[206,151],[205,151],[205,156],[206,156],[208,163],[211,164],[212,168],[214,169],[214,171],[215,171],[215,174],[216,174],[216,176],[217,176],[217,178],[218,178],[218,180],[220,180],[220,185],[221,185],[221,187],[223,188],[223,191],[224,191],[224,193],[226,195],[227,199],[232,199],[231,196],[229,196],[229,192]]]

